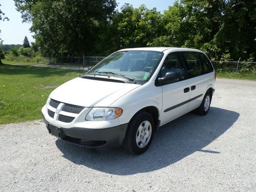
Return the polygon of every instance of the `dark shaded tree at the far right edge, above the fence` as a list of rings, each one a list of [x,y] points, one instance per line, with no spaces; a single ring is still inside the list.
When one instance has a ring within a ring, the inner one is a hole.
[[[223,55],[242,60],[256,58],[256,2],[226,1],[214,44]]]

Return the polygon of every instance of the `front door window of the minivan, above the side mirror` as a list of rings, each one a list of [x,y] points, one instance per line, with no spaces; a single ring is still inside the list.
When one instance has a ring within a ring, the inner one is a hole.
[[[179,81],[185,79],[184,67],[178,53],[170,53],[166,56],[160,71],[160,77],[164,77],[167,72],[175,72]]]

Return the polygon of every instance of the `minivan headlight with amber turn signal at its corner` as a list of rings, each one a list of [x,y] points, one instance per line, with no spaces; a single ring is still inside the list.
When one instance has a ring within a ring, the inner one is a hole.
[[[121,108],[93,108],[86,116],[87,121],[105,121],[122,115]]]

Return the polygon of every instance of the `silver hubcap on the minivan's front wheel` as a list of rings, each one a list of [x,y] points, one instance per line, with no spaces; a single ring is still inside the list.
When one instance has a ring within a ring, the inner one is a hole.
[[[148,142],[150,142],[152,134],[152,126],[150,121],[143,121],[136,134],[136,143],[138,147],[143,148],[147,145]]]

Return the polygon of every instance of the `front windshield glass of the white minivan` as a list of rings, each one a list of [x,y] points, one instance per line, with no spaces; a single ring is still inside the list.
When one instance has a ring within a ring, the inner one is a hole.
[[[87,74],[107,74],[119,78],[147,81],[156,70],[163,53],[157,51],[120,51],[100,61]]]

